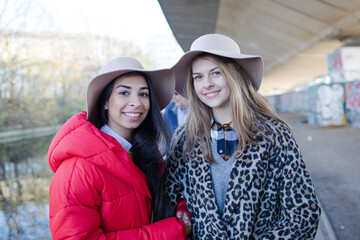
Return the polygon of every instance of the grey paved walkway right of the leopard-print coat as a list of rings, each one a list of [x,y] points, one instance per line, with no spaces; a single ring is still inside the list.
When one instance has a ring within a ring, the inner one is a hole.
[[[322,205],[316,240],[360,239],[360,129],[317,127],[280,114],[294,131]]]

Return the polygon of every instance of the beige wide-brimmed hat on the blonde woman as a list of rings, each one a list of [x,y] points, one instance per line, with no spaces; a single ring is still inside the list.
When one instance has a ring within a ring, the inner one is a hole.
[[[231,38],[221,34],[206,34],[197,38],[186,52],[172,67],[175,78],[175,90],[183,96],[186,93],[186,75],[193,59],[202,54],[210,53],[217,56],[232,58],[249,75],[256,90],[259,89],[264,73],[264,64],[260,56],[241,54],[239,45]]]

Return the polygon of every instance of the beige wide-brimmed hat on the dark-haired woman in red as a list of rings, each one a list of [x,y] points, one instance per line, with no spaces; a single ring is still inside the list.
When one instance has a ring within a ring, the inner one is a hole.
[[[128,72],[142,72],[149,76],[160,109],[170,103],[175,90],[175,77],[170,69],[145,70],[141,63],[133,57],[118,57],[102,66],[97,76],[88,85],[86,108],[87,118],[90,122],[95,123],[98,120],[97,102],[105,86]]]

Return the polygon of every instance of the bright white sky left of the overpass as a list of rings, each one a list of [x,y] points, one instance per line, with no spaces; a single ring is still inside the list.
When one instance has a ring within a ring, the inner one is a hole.
[[[109,36],[145,52],[161,37],[183,53],[157,0],[0,0],[0,14],[2,28]]]

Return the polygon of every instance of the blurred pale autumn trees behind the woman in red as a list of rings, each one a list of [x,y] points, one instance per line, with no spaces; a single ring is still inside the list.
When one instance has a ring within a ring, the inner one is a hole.
[[[86,87],[118,56],[150,58],[117,39],[3,31],[0,38],[0,130],[63,123],[85,110]]]

